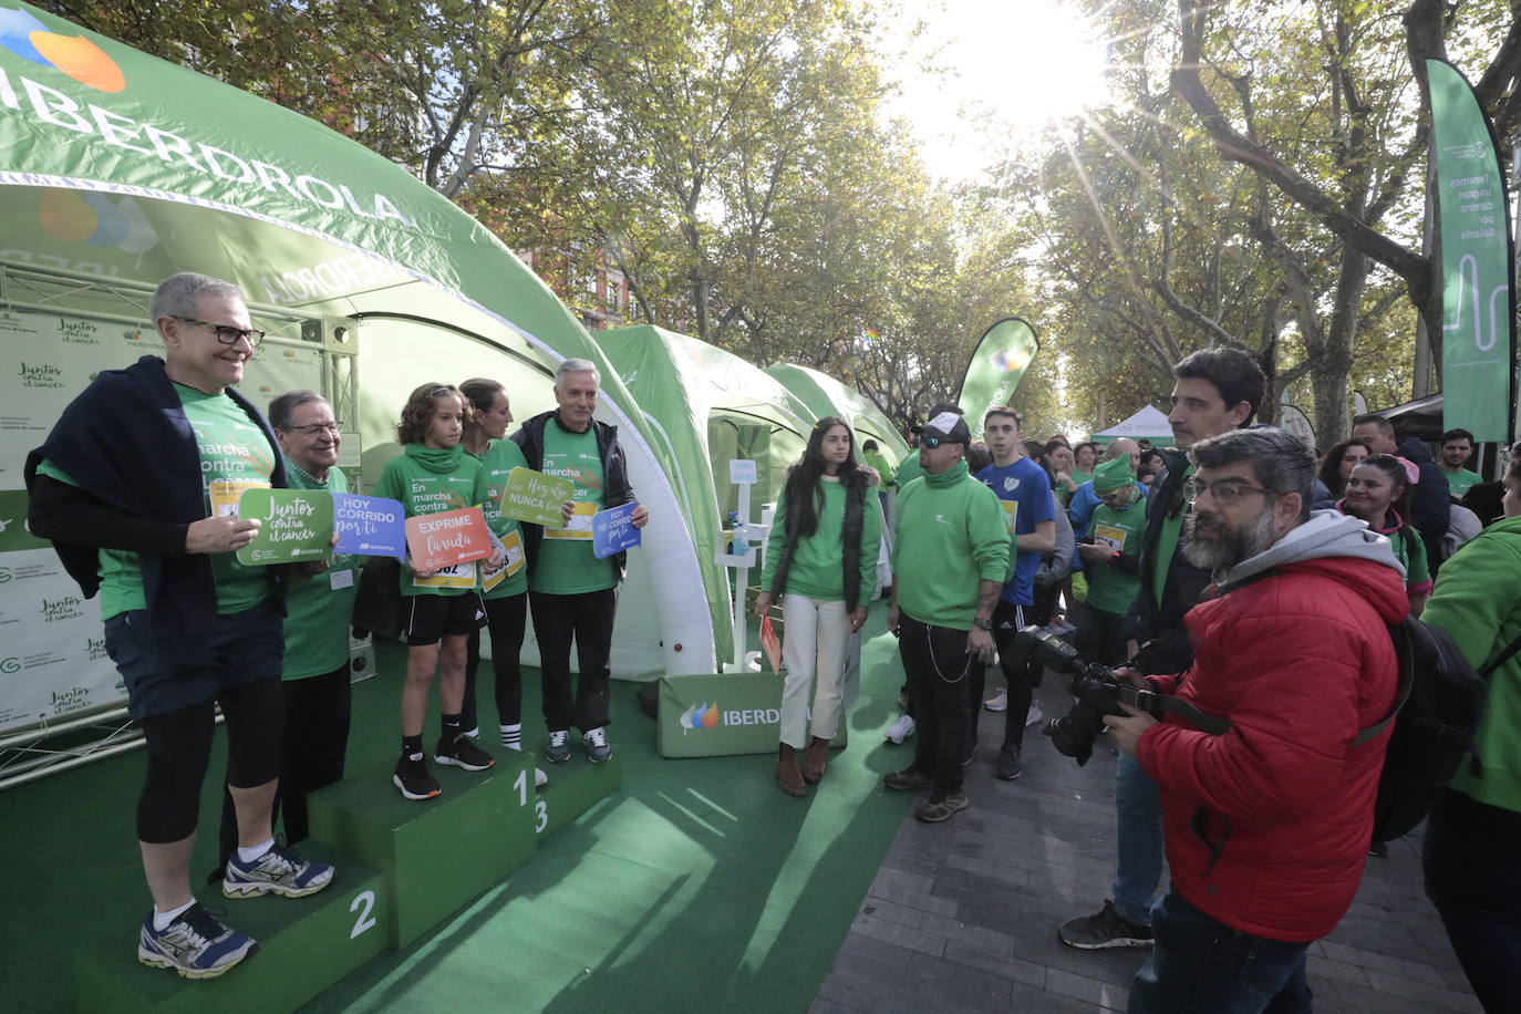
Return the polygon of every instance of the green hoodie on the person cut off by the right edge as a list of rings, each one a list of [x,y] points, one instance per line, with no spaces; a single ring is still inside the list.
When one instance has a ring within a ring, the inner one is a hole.
[[[1521,517],[1495,521],[1442,564],[1421,619],[1451,634],[1475,669],[1521,637]],[[1489,677],[1474,751],[1481,774],[1462,763],[1453,787],[1521,812],[1521,654]]]

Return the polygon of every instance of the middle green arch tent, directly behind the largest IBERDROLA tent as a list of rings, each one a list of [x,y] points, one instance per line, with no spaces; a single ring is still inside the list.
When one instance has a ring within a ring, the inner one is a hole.
[[[733,654],[733,593],[716,559],[724,518],[733,506],[732,458],[757,462],[750,520],[774,502],[785,468],[802,456],[817,417],[753,363],[686,334],[642,324],[598,331],[596,341],[634,394],[636,404],[675,471],[692,541],[710,547],[700,559],[718,657]]]

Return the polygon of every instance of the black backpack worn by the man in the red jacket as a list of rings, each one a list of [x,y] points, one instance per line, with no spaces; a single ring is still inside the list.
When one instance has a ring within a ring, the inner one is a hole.
[[[1399,660],[1395,707],[1384,721],[1364,728],[1352,740],[1354,746],[1366,743],[1390,722],[1395,724],[1378,777],[1375,842],[1407,835],[1425,819],[1436,798],[1457,774],[1463,756],[1474,746],[1474,733],[1489,692],[1489,673],[1521,649],[1518,640],[1483,670],[1475,670],[1451,634],[1440,626],[1407,616],[1389,626],[1389,635]]]

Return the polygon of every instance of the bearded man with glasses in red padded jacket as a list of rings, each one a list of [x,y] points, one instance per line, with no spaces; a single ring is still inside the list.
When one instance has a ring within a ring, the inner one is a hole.
[[[1185,617],[1194,664],[1148,689],[1227,727],[1104,719],[1161,791],[1173,871],[1129,1009],[1308,1011],[1305,955],[1351,906],[1372,833],[1390,730],[1357,739],[1393,707],[1404,573],[1357,518],[1310,514],[1316,459],[1288,433],[1189,458],[1182,547],[1212,585]]]

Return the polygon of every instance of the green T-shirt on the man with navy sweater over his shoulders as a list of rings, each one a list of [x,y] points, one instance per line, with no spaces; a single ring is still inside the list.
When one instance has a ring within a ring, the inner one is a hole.
[[[245,488],[271,483],[275,450],[265,432],[225,394],[207,394],[179,383],[175,394],[196,435],[205,512],[208,517],[231,514]],[[49,461],[37,471],[71,486],[79,485]],[[213,555],[211,572],[216,575],[216,611],[222,616],[251,610],[269,594],[266,569],[240,564],[234,553]],[[102,620],[148,608],[137,553],[102,549],[99,573]]]

